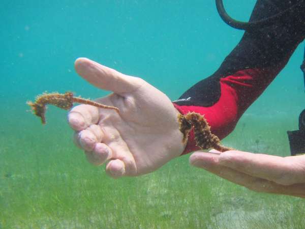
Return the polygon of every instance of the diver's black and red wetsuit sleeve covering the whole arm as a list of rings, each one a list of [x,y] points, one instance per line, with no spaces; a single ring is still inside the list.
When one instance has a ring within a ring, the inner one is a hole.
[[[173,101],[182,115],[204,115],[220,139],[235,128],[246,109],[285,67],[305,38],[305,1],[257,1],[250,21],[266,19],[303,2],[280,20],[246,31],[240,42],[211,76],[199,81]],[[191,132],[184,154],[198,150]]]

